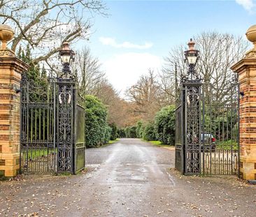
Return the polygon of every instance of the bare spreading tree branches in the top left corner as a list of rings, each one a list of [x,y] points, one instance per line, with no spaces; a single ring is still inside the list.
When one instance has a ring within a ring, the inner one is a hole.
[[[0,22],[15,29],[11,49],[28,43],[36,64],[54,57],[65,41],[87,39],[90,18],[105,9],[97,0],[0,0]]]

